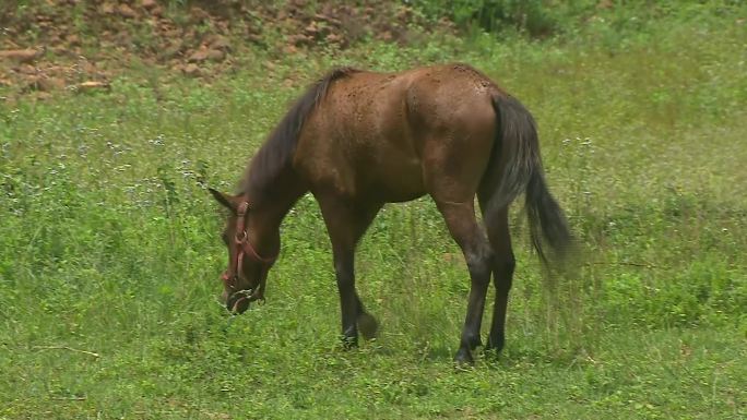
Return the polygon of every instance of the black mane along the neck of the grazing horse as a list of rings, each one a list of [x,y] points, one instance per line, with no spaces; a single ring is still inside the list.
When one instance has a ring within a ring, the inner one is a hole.
[[[311,85],[306,93],[296,100],[285,117],[272,131],[257,155],[251,159],[240,192],[251,195],[266,195],[268,189],[290,163],[298,143],[298,134],[306,118],[321,103],[327,95],[330,84],[337,79],[344,77],[356,70],[352,68],[334,69]],[[251,193],[250,193],[251,191]],[[252,196],[251,200],[258,197]]]

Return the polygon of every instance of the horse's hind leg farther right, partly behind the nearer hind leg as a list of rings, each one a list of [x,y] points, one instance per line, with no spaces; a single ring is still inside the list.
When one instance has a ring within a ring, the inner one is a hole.
[[[496,301],[493,307],[493,323],[486,350],[500,351],[506,341],[506,308],[508,296],[513,283],[513,268],[515,260],[511,248],[511,236],[508,226],[508,207],[501,208],[494,215],[485,213],[487,200],[479,195],[483,208],[484,221],[488,232],[490,247],[493,247],[493,283],[496,286]]]

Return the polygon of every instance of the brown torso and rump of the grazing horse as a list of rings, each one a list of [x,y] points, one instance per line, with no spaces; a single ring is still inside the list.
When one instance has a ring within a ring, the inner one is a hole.
[[[463,64],[352,72],[309,116],[294,165],[312,191],[382,202],[442,190],[435,182],[476,188],[493,145],[496,89]]]

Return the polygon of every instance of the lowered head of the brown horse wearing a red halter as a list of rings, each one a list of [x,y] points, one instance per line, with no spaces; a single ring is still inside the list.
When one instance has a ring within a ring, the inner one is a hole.
[[[264,300],[268,271],[275,259],[260,256],[249,241],[249,201],[246,195],[228,195],[210,189],[211,194],[230,212],[223,230],[223,241],[228,249],[228,268],[221,276],[223,300],[234,313],[242,313],[256,300]]]

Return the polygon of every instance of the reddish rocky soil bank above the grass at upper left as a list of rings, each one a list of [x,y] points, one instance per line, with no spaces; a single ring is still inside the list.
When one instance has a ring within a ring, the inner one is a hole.
[[[0,88],[44,97],[106,88],[131,67],[211,77],[247,49],[278,57],[376,38],[408,43],[428,23],[398,1],[36,0],[0,5]]]

